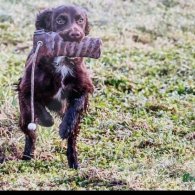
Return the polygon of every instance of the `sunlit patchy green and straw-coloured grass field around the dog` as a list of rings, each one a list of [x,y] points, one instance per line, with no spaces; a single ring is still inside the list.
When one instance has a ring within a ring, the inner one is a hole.
[[[36,157],[20,160],[14,83],[23,74],[39,10],[77,3],[88,11],[101,59],[86,59],[96,87],[78,138],[38,129]],[[0,0],[0,190],[195,190],[194,0]]]

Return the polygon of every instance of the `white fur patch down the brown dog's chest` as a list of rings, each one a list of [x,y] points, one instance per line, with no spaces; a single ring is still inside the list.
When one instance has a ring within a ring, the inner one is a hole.
[[[53,65],[55,68],[55,72],[61,75],[61,86],[58,89],[57,93],[53,96],[53,98],[63,103],[66,99],[65,97],[67,96],[66,86],[64,85],[64,79],[70,75],[74,76],[73,70],[66,64],[64,56],[54,58]]]

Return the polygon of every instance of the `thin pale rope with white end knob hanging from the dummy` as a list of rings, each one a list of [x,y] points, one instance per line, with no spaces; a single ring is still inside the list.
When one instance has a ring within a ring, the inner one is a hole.
[[[40,47],[43,45],[42,41],[37,42],[37,47],[32,59],[32,70],[31,70],[31,98],[30,98],[30,105],[31,105],[31,123],[28,124],[28,130],[35,131],[36,124],[35,124],[35,110],[34,110],[34,86],[35,86],[35,65],[37,60],[37,55],[39,52]]]

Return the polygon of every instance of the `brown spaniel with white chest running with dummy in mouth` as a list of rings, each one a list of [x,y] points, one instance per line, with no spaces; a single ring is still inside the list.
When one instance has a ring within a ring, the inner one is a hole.
[[[36,29],[54,31],[64,41],[80,41],[89,33],[86,13],[79,7],[60,6],[44,10],[37,16]],[[31,68],[26,65],[24,76],[18,84],[20,127],[25,133],[23,160],[30,160],[35,150],[36,132],[27,129],[31,122]],[[88,105],[88,95],[94,86],[83,58],[64,56],[42,58],[35,68],[35,121],[45,127],[53,125],[53,118],[46,110],[62,117],[59,134],[68,140],[67,158],[70,168],[78,168],[76,138],[79,123]]]

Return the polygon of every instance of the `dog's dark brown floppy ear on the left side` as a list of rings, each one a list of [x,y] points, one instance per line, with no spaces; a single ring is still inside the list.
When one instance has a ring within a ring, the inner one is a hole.
[[[45,31],[52,30],[52,9],[46,9],[37,15],[35,27],[37,30],[44,29]]]

